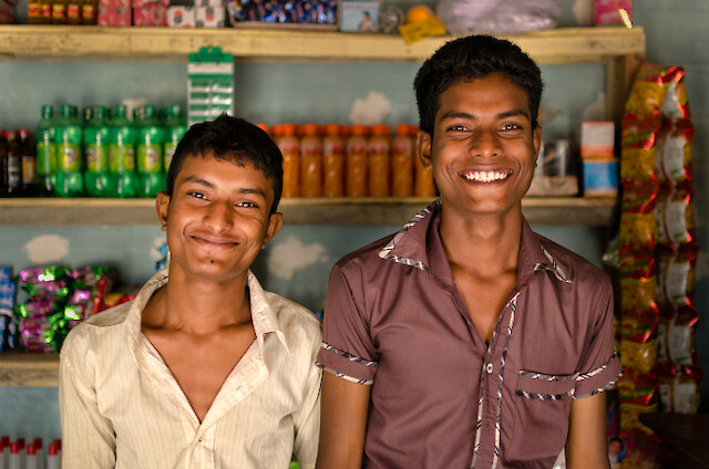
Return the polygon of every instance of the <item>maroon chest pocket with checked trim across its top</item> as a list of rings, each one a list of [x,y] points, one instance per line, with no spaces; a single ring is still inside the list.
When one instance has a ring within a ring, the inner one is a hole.
[[[520,371],[510,460],[556,457],[566,444],[576,375]]]

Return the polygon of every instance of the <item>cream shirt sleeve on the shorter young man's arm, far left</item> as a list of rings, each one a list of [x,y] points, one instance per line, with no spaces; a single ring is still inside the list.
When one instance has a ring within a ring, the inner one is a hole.
[[[68,341],[70,342],[70,341]],[[59,405],[62,429],[62,466],[68,468],[113,468],[115,434],[99,411],[95,390],[72,367],[64,343],[59,364]]]

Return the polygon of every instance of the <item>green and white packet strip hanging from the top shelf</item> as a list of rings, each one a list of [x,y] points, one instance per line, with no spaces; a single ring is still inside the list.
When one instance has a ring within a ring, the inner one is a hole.
[[[234,114],[234,58],[220,48],[202,48],[187,64],[187,124]]]

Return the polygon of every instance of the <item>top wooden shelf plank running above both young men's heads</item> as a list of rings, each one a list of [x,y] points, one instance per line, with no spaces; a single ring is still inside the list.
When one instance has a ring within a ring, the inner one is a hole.
[[[643,28],[561,28],[504,35],[540,63],[598,62],[645,54]],[[451,37],[407,45],[399,35],[292,29],[0,27],[0,56],[17,60],[185,61],[202,46],[239,59],[421,62]]]

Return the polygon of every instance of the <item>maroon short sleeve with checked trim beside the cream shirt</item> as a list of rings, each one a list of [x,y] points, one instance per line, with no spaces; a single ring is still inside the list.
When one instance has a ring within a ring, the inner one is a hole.
[[[317,365],[347,381],[372,384],[379,363],[362,306],[362,285],[361,272],[346,275],[340,264],[332,268]]]

